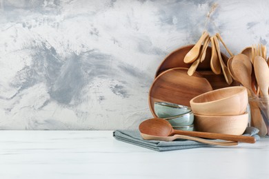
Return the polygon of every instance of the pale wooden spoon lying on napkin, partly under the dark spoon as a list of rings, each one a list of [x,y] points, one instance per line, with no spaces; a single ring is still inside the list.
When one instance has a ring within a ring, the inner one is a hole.
[[[186,140],[193,140],[199,143],[205,143],[205,144],[210,144],[210,145],[223,145],[223,146],[238,145],[237,142],[233,142],[233,141],[214,142],[212,140],[206,140],[203,138],[197,138],[197,137],[191,137],[191,136],[183,136],[183,135],[178,135],[178,134],[174,136],[160,137],[160,136],[151,136],[148,134],[141,133],[141,136],[144,140],[161,140],[161,141],[170,142],[170,141],[176,140],[177,138],[180,138],[180,139],[186,139]]]

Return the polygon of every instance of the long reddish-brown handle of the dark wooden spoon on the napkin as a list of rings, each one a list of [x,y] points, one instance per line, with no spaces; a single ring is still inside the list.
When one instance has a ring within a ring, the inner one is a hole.
[[[256,142],[255,138],[251,136],[217,134],[217,133],[202,132],[202,131],[181,131],[181,130],[173,129],[172,134],[179,134],[179,135],[200,137],[200,138],[232,140],[232,141],[241,142],[241,143],[255,143]]]

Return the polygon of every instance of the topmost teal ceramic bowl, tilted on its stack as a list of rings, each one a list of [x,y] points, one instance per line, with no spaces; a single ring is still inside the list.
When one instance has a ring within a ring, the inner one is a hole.
[[[159,118],[170,118],[192,111],[190,107],[166,102],[155,102],[154,110]]]

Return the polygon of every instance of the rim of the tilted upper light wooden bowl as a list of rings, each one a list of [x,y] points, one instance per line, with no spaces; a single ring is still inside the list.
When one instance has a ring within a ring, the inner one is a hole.
[[[214,100],[214,101],[207,101],[207,102],[201,102],[201,103],[194,102],[197,98],[201,98],[201,96],[205,96],[205,95],[208,95],[210,93],[224,91],[224,90],[228,90],[228,89],[232,89],[232,88],[238,88],[238,89],[241,89],[241,90],[239,92],[237,92],[236,94],[232,94],[231,96],[227,96],[226,98],[220,98],[220,99],[217,99],[217,100]],[[243,86],[223,87],[223,88],[220,88],[220,89],[215,89],[215,90],[212,90],[210,92],[200,94],[199,96],[195,96],[194,98],[192,98],[190,100],[190,104],[205,105],[205,104],[210,104],[210,103],[216,103],[217,101],[223,101],[223,100],[226,100],[228,98],[232,98],[233,96],[236,96],[238,94],[245,93],[245,92],[246,92],[246,94],[248,94],[246,87],[243,87]]]

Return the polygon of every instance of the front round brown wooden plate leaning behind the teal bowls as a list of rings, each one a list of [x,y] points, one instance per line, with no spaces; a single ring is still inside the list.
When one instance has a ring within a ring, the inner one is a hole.
[[[199,94],[209,92],[212,87],[198,72],[187,74],[188,68],[176,67],[159,74],[150,87],[148,101],[150,111],[154,111],[155,101],[165,101],[190,107],[190,100]]]

